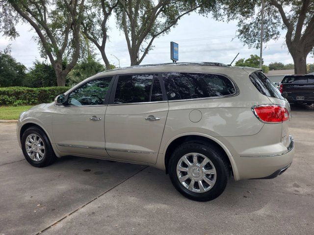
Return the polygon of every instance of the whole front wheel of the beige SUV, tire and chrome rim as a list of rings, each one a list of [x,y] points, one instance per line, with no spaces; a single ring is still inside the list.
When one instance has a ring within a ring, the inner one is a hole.
[[[21,143],[25,159],[33,166],[44,167],[57,159],[47,135],[38,127],[27,128]]]

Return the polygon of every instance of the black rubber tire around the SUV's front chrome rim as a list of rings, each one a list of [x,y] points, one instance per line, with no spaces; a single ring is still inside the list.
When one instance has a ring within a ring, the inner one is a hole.
[[[26,138],[31,134],[35,134],[35,135],[39,136],[41,138],[41,140],[43,141],[44,147],[45,147],[44,156],[42,157],[42,159],[40,159],[40,161],[37,161],[37,162],[32,160],[26,152]],[[36,166],[36,167],[48,166],[48,165],[54,163],[55,160],[57,159],[57,157],[55,156],[55,154],[53,152],[51,143],[50,143],[46,133],[38,127],[27,128],[26,131],[22,135],[21,143],[22,143],[22,151],[23,151],[23,154],[24,154],[26,161],[33,166]]]

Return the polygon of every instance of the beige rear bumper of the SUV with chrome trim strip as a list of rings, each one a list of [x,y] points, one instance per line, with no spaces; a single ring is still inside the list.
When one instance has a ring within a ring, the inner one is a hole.
[[[289,146],[283,153],[239,157],[236,161],[238,179],[272,179],[287,170],[294,156],[294,141],[289,137]]]

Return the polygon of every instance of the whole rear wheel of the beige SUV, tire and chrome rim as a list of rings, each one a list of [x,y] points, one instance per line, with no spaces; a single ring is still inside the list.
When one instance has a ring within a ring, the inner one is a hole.
[[[195,201],[210,201],[226,188],[229,164],[215,146],[184,143],[172,154],[168,172],[174,187]]]

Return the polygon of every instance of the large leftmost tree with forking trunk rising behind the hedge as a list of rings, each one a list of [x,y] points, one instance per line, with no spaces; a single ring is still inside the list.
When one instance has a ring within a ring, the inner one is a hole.
[[[58,86],[65,85],[66,75],[76,65],[80,52],[80,27],[84,0],[2,0],[1,27],[5,36],[16,37],[14,25],[21,19],[30,24],[55,71]],[[13,13],[15,14],[9,14]],[[69,61],[64,67],[63,62]]]

